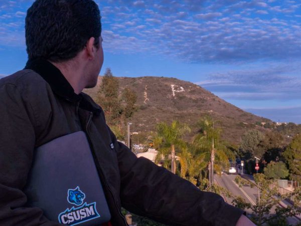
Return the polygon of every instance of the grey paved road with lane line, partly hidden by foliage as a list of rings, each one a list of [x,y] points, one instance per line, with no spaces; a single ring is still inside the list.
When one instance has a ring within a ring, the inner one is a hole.
[[[214,180],[215,182],[228,189],[232,194],[236,196],[243,197],[248,203],[251,203],[254,205],[256,203],[256,200],[258,198],[258,189],[257,187],[250,187],[249,185],[243,185],[241,188],[238,187],[238,185],[235,183],[234,179],[237,175],[228,175],[228,174],[222,174],[222,176],[215,175]],[[230,203],[232,202],[232,198],[224,197],[225,201]],[[271,213],[274,213],[275,207],[271,209]],[[247,213],[251,213],[251,209],[246,210]],[[299,223],[299,219],[296,217],[288,217],[287,218],[289,224],[296,225]]]

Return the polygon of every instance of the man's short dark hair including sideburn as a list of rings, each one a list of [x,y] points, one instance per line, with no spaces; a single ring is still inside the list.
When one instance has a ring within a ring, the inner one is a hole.
[[[36,0],[25,19],[28,58],[67,61],[83,50],[91,37],[98,48],[100,19],[92,0]]]

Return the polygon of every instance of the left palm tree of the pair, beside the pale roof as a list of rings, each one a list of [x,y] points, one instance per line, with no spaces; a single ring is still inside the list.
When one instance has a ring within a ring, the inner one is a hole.
[[[190,131],[191,129],[187,124],[181,124],[179,121],[173,121],[171,125],[165,122],[158,123],[157,136],[154,138],[154,147],[158,149],[159,153],[155,161],[158,162],[164,158],[164,164],[167,166],[169,163],[167,159],[171,156],[171,171],[172,173],[176,173],[176,149],[178,151],[186,150],[186,144],[182,140],[182,137],[185,133]],[[186,166],[184,166],[184,168],[185,167]]]

